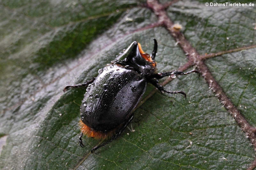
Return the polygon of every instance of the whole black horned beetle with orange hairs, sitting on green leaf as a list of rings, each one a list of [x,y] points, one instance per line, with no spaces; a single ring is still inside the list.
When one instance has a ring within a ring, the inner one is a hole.
[[[109,140],[91,149],[94,152],[119,137],[127,125],[133,119],[132,110],[137,106],[145,92],[147,83],[151,83],[161,93],[180,93],[186,97],[183,91],[167,91],[158,84],[158,79],[166,76],[186,75],[180,71],[156,72],[157,41],[154,39],[154,48],[151,55],[145,53],[140,43],[134,41],[103,69],[99,75],[81,85],[68,85],[64,92],[71,87],[87,87],[84,99],[80,107],[81,135],[79,144],[82,142],[83,134],[87,137]]]

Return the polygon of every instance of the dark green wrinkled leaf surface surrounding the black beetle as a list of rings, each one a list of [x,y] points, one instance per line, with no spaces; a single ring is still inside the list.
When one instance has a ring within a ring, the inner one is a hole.
[[[162,0],[156,2],[165,7],[159,12],[152,2],[0,1],[0,169],[256,166],[255,134],[246,131],[256,126],[255,7]],[[167,18],[161,20],[163,11]],[[185,44],[177,41],[167,19],[182,26],[176,31]],[[85,89],[64,93],[64,87],[97,76],[132,41],[150,53],[153,38],[158,41],[159,72],[182,68],[194,55],[191,48],[184,50],[189,44],[205,57],[208,71],[246,126],[199,69],[200,76],[160,81],[167,90],[186,92],[187,98],[161,94],[148,84],[119,138],[91,153],[102,141],[83,137],[81,148],[78,122]],[[206,57],[210,53],[215,57]]]

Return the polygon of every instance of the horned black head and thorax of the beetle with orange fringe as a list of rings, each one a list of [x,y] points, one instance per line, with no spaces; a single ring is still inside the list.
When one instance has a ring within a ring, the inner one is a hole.
[[[124,51],[124,53],[117,58],[121,63],[127,64],[138,70],[142,74],[152,74],[156,70],[156,51],[157,51],[157,41],[154,39],[154,49],[151,55],[145,53],[140,43],[137,41],[132,42],[132,44]]]

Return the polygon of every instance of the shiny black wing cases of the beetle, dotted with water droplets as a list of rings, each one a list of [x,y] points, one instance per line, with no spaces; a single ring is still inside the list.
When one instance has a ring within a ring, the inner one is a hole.
[[[132,67],[110,64],[84,94],[80,114],[90,128],[108,132],[122,125],[131,115],[146,89],[143,74]]]

